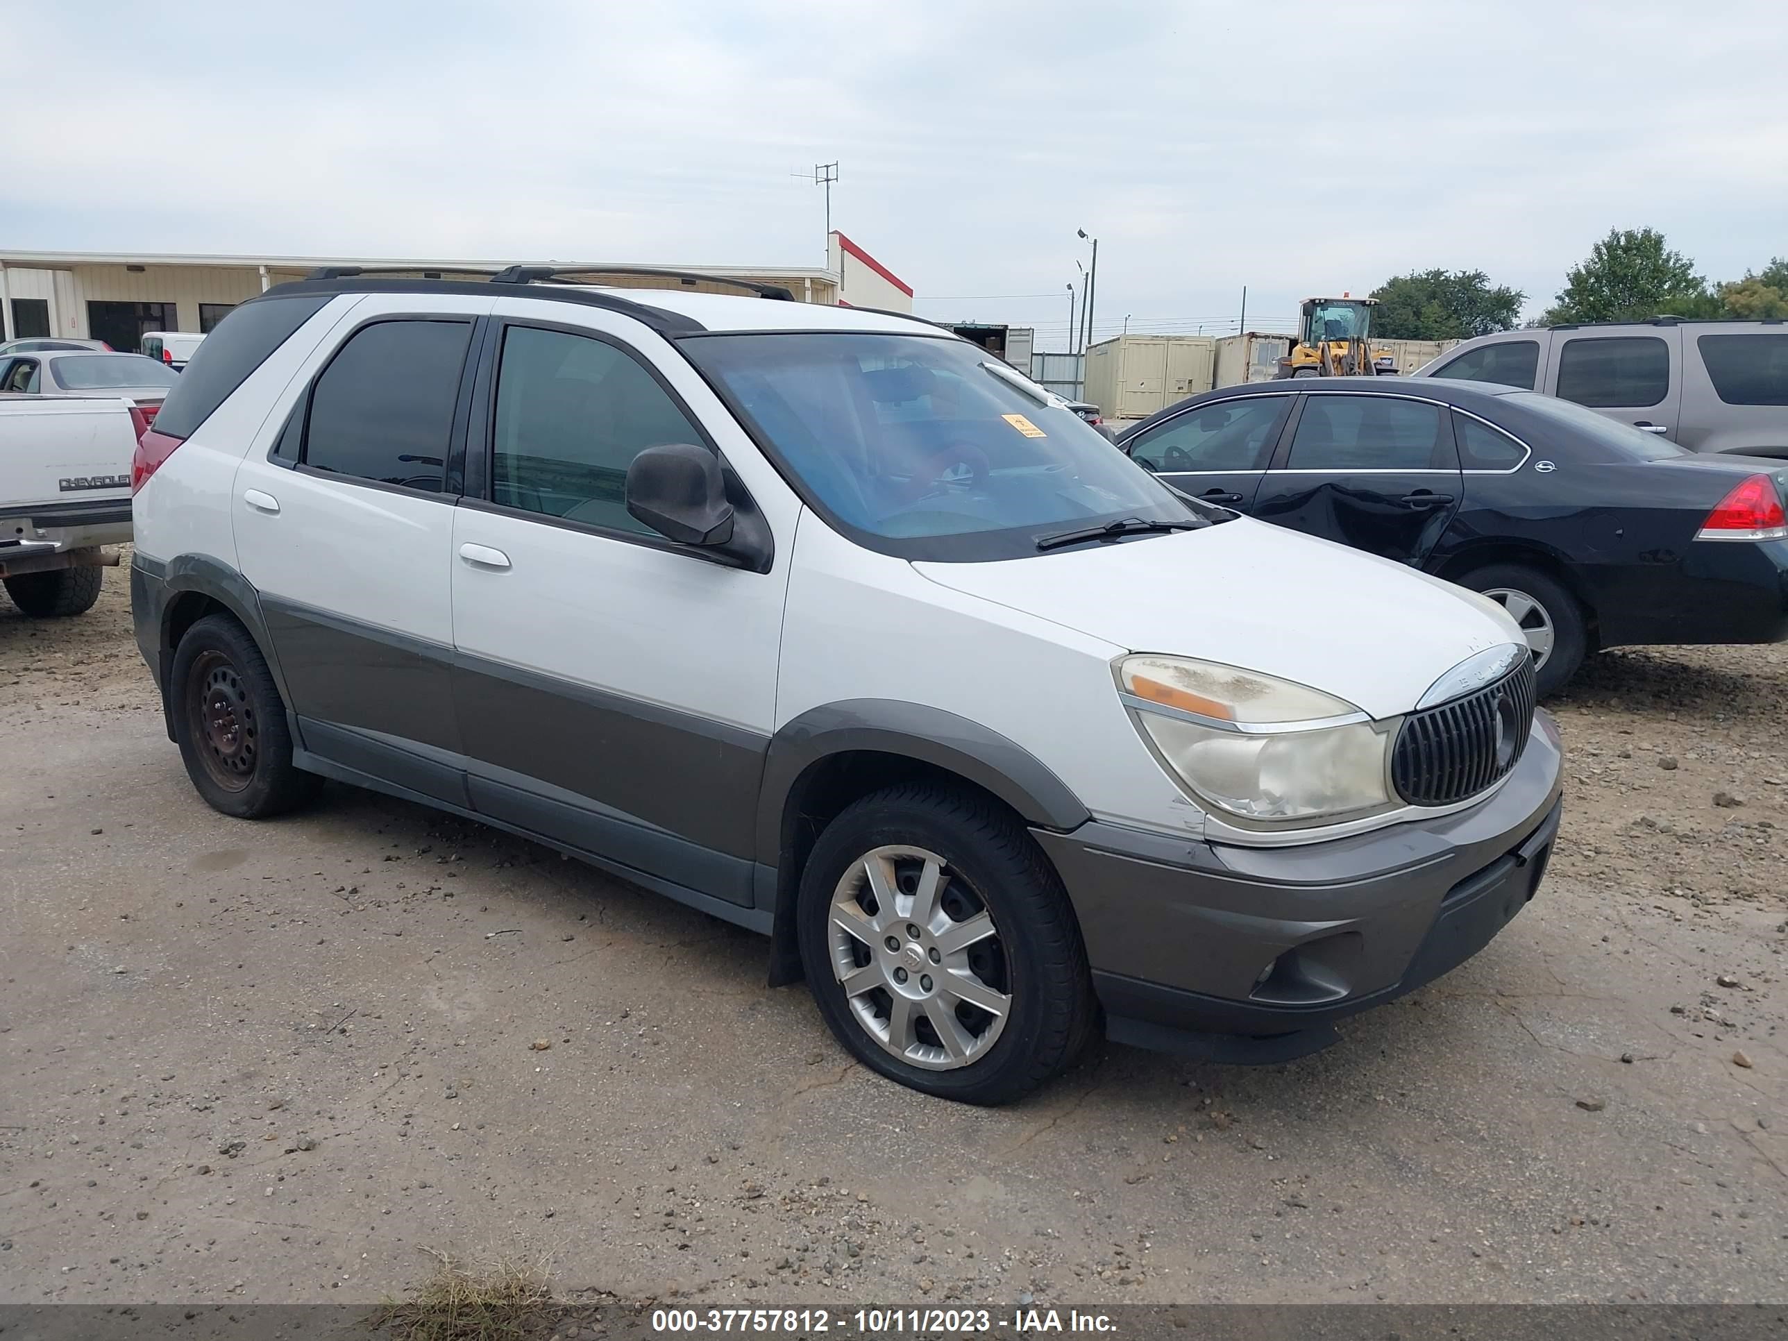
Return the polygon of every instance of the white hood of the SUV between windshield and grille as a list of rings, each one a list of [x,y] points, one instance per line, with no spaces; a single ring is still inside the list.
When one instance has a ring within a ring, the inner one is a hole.
[[[1491,601],[1246,517],[1035,558],[914,569],[1132,653],[1295,679],[1373,717],[1409,712],[1486,647],[1522,644]]]

